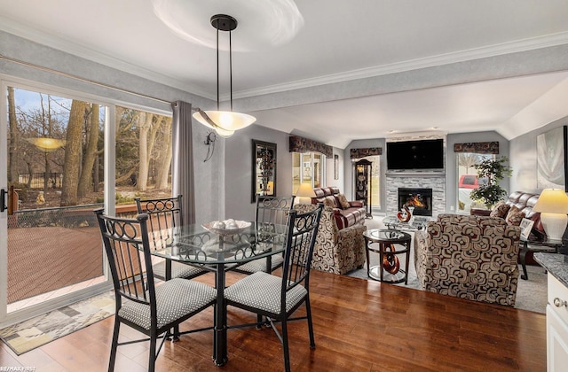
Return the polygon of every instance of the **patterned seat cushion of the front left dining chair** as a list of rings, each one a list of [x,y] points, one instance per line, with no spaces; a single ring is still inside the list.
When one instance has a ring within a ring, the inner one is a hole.
[[[155,291],[158,329],[206,306],[217,298],[217,291],[209,285],[178,278],[157,285]],[[144,329],[150,329],[149,305],[122,298],[122,307],[118,315]]]

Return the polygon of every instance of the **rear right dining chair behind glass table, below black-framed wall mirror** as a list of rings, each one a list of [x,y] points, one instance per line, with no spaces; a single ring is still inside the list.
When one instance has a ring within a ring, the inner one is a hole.
[[[294,206],[294,198],[291,197],[256,197],[256,241],[265,241],[267,236],[275,240],[276,243],[284,243],[286,230],[276,231],[276,229],[286,227],[288,223],[288,213]],[[270,258],[271,267],[267,269],[269,260],[252,260],[240,267],[234,268],[241,274],[253,274],[257,271],[272,273],[272,271],[282,266],[283,255],[272,256]]]

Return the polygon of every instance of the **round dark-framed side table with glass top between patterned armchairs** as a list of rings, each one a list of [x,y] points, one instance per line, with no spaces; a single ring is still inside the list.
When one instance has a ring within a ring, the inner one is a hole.
[[[412,236],[406,232],[393,229],[370,229],[365,236],[365,252],[367,253],[367,275],[371,279],[383,283],[408,284],[408,264],[410,260],[410,242]],[[402,249],[395,245],[402,245]],[[369,252],[379,253],[379,264],[369,267]],[[399,267],[398,255],[405,255],[406,265]],[[393,267],[398,263],[398,267]],[[386,267],[385,267],[386,266]]]

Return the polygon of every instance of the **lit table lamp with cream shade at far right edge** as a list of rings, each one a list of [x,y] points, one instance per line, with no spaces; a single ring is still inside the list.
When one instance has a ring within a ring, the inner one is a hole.
[[[533,207],[534,212],[540,212],[542,227],[547,233],[548,240],[561,241],[568,224],[568,196],[562,189],[544,189],[539,200]]]

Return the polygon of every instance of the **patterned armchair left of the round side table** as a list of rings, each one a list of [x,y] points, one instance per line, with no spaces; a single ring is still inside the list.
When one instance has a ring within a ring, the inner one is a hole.
[[[307,212],[313,204],[298,204],[294,209]],[[324,206],[319,220],[318,235],[313,248],[312,268],[334,274],[345,274],[365,264],[365,226],[337,229],[334,210]]]

